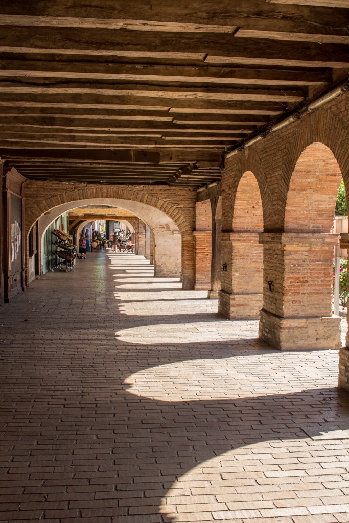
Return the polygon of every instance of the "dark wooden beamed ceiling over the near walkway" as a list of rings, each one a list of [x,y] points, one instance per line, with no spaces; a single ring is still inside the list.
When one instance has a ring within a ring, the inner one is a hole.
[[[198,187],[349,70],[349,0],[5,0],[0,157],[28,178]]]

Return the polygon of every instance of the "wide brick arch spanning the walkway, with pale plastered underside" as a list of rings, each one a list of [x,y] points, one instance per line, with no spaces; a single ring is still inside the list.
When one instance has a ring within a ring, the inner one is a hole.
[[[150,194],[144,187],[95,186],[56,184],[50,185],[52,196],[38,203],[37,194],[45,190],[41,182],[32,182],[25,187],[26,192],[26,237],[30,228],[43,214],[50,214],[51,221],[58,215],[74,207],[88,204],[107,204],[130,210],[149,226],[154,234],[154,266],[156,276],[181,276],[183,288],[194,285],[193,266],[193,225],[181,212],[180,207],[171,204],[166,198]],[[54,211],[53,211],[54,210]],[[171,253],[171,257],[170,257]]]

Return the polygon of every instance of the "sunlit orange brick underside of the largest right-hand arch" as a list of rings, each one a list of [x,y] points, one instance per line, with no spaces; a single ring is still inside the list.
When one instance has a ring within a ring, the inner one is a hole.
[[[327,145],[308,145],[292,173],[285,207],[285,232],[329,233],[342,178]]]

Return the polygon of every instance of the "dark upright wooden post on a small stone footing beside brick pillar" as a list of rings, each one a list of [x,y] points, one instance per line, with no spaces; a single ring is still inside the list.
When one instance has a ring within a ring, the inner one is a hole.
[[[218,300],[218,294],[221,288],[221,239],[220,233],[221,225],[221,206],[218,215],[218,202],[220,197],[211,198],[211,212],[212,212],[212,236],[211,236],[211,274],[210,274],[210,289],[207,293],[207,298],[210,300]]]

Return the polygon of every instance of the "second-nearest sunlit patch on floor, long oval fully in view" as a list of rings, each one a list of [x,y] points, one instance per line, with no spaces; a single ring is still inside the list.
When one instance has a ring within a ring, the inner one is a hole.
[[[205,400],[239,402],[241,397],[270,397],[273,394],[306,390],[310,381],[307,361],[313,361],[314,354],[319,358],[319,365],[323,365],[324,361],[330,363],[333,360],[329,351],[298,353],[295,360],[292,353],[280,353],[270,348],[263,350],[253,339],[249,347],[252,353],[250,355],[246,354],[247,347],[244,343],[240,354],[239,346],[235,346],[230,357],[215,359],[198,355],[197,359],[183,359],[140,370],[125,380],[127,392],[152,400],[174,403]],[[222,351],[222,347],[220,350]],[[331,363],[333,386],[336,385],[336,364],[335,360]],[[285,384],[284,369],[290,365],[293,365],[294,372],[297,373],[297,380]],[[321,374],[318,380],[311,377],[312,386],[317,382],[321,387]],[[273,399],[271,401],[273,402]]]

